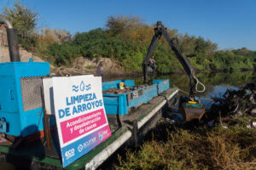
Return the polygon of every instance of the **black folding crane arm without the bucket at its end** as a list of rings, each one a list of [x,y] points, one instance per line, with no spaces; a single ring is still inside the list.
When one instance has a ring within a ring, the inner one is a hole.
[[[184,70],[186,71],[187,75],[189,76],[189,81],[190,81],[190,92],[189,95],[193,96],[195,91],[200,92],[197,90],[197,84],[201,83],[198,82],[197,78],[195,77],[195,70],[193,66],[190,64],[189,59],[183,56],[177,48],[175,47],[173,43],[173,39],[168,35],[166,31],[166,27],[162,25],[161,21],[158,21],[156,23],[156,27],[154,28],[154,37],[152,38],[151,44],[148,48],[148,53],[143,60],[143,78],[144,78],[144,83],[147,83],[148,79],[148,59],[152,56],[154,48],[160,39],[160,37],[164,36],[166,38],[166,41],[169,43],[171,46],[173,52],[176,54],[177,59],[179,62],[183,65]],[[204,86],[203,86],[204,88]],[[204,90],[203,90],[204,91]]]

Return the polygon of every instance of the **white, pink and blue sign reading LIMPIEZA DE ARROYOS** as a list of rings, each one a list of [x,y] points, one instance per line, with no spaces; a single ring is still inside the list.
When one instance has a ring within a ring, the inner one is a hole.
[[[53,77],[54,111],[63,167],[111,136],[102,77]]]

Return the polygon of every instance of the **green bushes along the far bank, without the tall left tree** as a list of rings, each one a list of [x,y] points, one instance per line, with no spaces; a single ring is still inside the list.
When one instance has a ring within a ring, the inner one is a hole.
[[[90,59],[107,57],[119,60],[126,71],[142,71],[143,59],[147,54],[150,42],[149,38],[153,35],[148,35],[145,40],[142,39],[142,37],[145,38],[143,29],[149,33],[150,26],[144,26],[140,23],[140,29],[137,30],[136,23],[129,26],[131,23],[127,22],[127,29],[122,29],[115,34],[109,30],[110,28],[107,30],[98,28],[77,33],[71,40],[61,44],[53,43],[48,46],[38,44],[37,50],[39,54],[45,53],[46,58],[53,60],[55,65],[70,65],[72,60],[78,56]],[[216,43],[202,37],[189,36],[188,34],[177,35],[175,30],[167,31],[172,32],[172,37],[179,37],[180,41],[174,41],[174,43],[197,70],[236,71],[241,68],[253,69],[256,65],[256,52],[247,48],[217,51]],[[183,71],[183,66],[164,38],[161,38],[154,49],[154,55],[158,72]]]

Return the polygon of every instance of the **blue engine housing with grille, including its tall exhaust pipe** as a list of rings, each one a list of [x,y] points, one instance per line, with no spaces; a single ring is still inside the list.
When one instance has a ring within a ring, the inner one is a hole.
[[[42,77],[49,74],[49,63],[20,62],[15,29],[7,25],[10,61],[0,64],[0,133],[26,137],[44,130]]]

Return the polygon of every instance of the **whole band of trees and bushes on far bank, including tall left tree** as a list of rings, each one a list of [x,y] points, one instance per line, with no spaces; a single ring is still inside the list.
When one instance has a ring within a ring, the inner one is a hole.
[[[72,36],[65,30],[44,28],[41,32],[36,31],[38,14],[19,1],[2,11],[18,30],[21,46],[57,66],[70,66],[79,56],[90,59],[107,57],[118,60],[128,72],[142,71],[143,58],[154,35],[154,26],[145,24],[138,17],[110,16],[105,28]],[[256,51],[247,48],[217,50],[216,43],[203,37],[183,35],[175,29],[167,31],[178,39],[175,41],[177,48],[189,58],[195,69],[236,71],[256,67]],[[183,71],[164,38],[154,55],[158,72]]]

